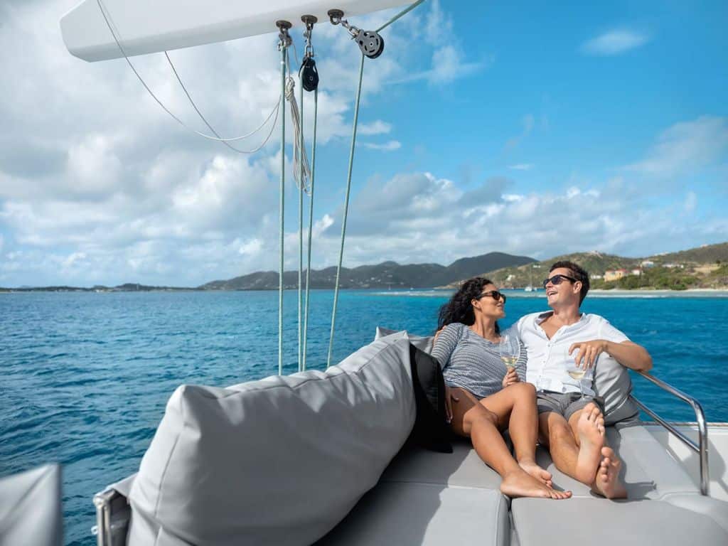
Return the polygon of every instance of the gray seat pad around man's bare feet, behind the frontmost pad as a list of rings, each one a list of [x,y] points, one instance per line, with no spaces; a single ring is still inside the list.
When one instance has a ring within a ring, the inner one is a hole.
[[[622,480],[630,499],[662,499],[669,494],[697,494],[700,489],[686,470],[673,459],[654,436],[641,425],[607,427],[606,439],[622,459]],[[544,448],[536,452],[537,462],[553,474],[558,488],[568,489],[574,496],[593,496],[589,488],[561,473]]]

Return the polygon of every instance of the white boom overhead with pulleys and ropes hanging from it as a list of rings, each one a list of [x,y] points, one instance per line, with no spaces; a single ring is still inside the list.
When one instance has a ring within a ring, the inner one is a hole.
[[[60,20],[72,55],[88,61],[123,57],[103,19],[114,27],[127,55],[176,50],[276,32],[275,22],[302,26],[301,15],[328,23],[329,9],[344,17],[401,6],[407,0],[84,0]]]

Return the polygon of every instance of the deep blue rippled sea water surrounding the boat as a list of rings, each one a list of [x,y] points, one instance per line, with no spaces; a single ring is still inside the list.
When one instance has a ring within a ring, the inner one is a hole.
[[[515,296],[516,294],[512,294]],[[521,293],[523,295],[523,293]],[[373,339],[376,325],[432,333],[446,292],[340,294],[334,360]],[[331,290],[315,290],[309,368],[325,368]],[[68,545],[92,545],[92,495],[135,472],[181,383],[225,386],[278,371],[276,292],[0,293],[0,477],[63,463]],[[507,326],[545,308],[513,297]],[[647,347],[654,373],[728,422],[728,299],[587,298]],[[297,370],[296,293],[285,293],[285,373]],[[684,403],[646,381],[636,395],[668,419]]]

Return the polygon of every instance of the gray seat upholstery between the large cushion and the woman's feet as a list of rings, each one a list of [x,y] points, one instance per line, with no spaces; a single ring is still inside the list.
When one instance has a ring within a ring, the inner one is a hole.
[[[500,477],[470,443],[452,454],[405,448],[379,484],[319,546],[507,545],[508,501]]]

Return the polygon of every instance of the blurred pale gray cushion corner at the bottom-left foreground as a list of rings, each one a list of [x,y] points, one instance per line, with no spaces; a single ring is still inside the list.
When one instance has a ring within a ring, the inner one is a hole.
[[[0,545],[60,546],[60,465],[0,480]]]

